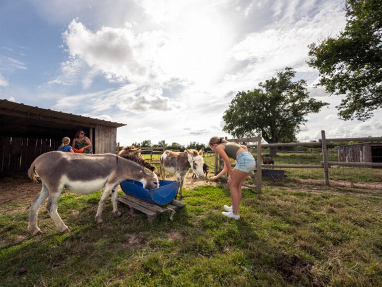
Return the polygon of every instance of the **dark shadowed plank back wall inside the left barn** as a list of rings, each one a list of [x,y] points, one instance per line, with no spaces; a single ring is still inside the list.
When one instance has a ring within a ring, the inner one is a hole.
[[[58,140],[0,136],[0,172],[27,171],[42,153],[57,150]]]

